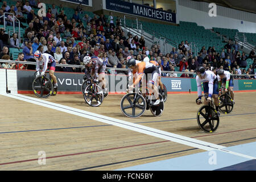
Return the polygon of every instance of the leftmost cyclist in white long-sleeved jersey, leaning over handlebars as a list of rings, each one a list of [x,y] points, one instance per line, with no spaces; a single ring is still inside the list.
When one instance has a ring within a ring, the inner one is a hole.
[[[49,55],[48,53],[42,53],[39,50],[37,50],[34,53],[34,58],[36,60],[36,77],[43,76],[47,68],[49,68],[49,75],[53,80],[53,88],[56,89],[58,85],[57,78],[54,75],[56,66],[56,60],[54,59],[54,57],[52,57],[52,55]],[[39,73],[40,61],[43,61],[43,71],[41,72],[41,75]]]

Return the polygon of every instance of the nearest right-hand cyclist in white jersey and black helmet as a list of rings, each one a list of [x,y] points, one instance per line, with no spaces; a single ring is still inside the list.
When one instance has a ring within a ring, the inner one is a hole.
[[[212,97],[214,99],[214,105],[217,110],[218,115],[220,112],[218,111],[218,78],[212,71],[205,71],[204,67],[199,67],[196,70],[196,83],[197,83],[197,105],[201,104],[202,97],[202,86],[201,82],[203,82],[204,94],[208,95],[207,100],[204,100],[204,104],[212,101]]]

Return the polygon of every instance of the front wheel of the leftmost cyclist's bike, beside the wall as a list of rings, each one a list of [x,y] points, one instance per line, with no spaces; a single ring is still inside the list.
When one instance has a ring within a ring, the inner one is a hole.
[[[36,77],[32,83],[32,89],[39,98],[48,98],[53,93],[52,82],[45,76]]]

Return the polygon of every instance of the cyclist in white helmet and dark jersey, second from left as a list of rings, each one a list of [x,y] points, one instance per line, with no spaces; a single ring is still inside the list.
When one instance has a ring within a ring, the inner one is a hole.
[[[86,79],[93,76],[93,82],[98,83],[98,81],[102,82],[102,90],[104,93],[104,97],[107,94],[106,81],[105,81],[105,69],[106,65],[104,61],[97,56],[85,56],[84,57],[85,64],[85,76]]]

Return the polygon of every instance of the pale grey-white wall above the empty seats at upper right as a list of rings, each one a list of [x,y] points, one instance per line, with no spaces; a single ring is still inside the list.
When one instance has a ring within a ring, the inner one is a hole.
[[[177,23],[179,23],[179,21],[195,22],[199,26],[204,26],[206,29],[211,29],[212,27],[232,28],[237,29],[240,32],[256,33],[256,23],[243,20],[243,24],[241,24],[241,19],[233,19],[225,16],[220,16],[218,15],[218,7],[217,16],[210,17],[208,13],[205,11],[200,11],[196,9],[191,9],[189,7],[181,6],[179,5],[179,3],[176,3],[176,6]]]

